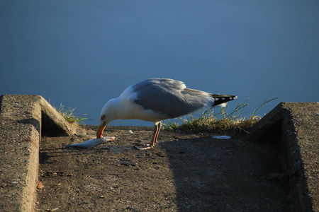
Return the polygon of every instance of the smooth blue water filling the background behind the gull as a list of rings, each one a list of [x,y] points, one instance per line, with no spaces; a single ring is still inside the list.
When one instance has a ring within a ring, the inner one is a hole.
[[[249,116],[319,101],[318,1],[6,1],[0,94],[42,95],[99,124],[145,78],[237,95]],[[118,120],[111,125],[152,123]]]

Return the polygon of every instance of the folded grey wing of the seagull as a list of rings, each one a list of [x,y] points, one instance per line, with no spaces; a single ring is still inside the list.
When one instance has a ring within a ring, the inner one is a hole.
[[[152,78],[135,84],[133,93],[133,101],[136,104],[146,110],[166,114],[167,118],[196,112],[210,100],[206,92],[187,89],[181,81],[162,78]]]

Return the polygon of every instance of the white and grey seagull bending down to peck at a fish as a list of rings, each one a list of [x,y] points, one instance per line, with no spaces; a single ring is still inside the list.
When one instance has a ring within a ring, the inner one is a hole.
[[[155,124],[151,142],[140,142],[140,150],[153,148],[164,119],[211,109],[225,107],[235,95],[206,93],[186,88],[181,81],[169,78],[150,78],[126,88],[118,98],[108,100],[101,110],[96,138],[103,137],[106,125],[116,119],[140,119]]]

